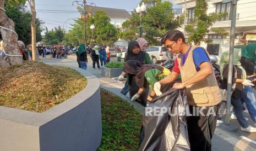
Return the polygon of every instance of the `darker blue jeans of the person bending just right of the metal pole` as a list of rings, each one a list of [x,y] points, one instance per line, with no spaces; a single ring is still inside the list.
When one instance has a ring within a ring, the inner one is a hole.
[[[233,112],[236,115],[239,125],[243,128],[249,127],[249,124],[246,121],[246,118],[243,116],[243,104],[241,99],[231,99],[231,104],[233,106]]]

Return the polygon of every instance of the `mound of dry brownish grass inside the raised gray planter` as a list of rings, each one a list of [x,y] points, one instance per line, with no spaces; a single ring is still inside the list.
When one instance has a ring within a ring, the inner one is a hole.
[[[67,67],[26,61],[0,71],[0,106],[44,112],[83,90],[86,79]]]

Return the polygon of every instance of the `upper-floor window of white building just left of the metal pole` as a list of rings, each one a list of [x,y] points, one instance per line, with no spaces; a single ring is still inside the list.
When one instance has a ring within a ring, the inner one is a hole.
[[[231,3],[216,3],[216,14],[227,13],[225,18],[219,19],[218,21],[231,20]]]

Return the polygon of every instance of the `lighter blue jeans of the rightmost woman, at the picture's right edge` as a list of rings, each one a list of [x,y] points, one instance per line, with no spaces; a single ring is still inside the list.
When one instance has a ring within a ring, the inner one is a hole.
[[[242,99],[242,101],[246,103],[250,117],[253,122],[256,123],[256,98],[254,96],[252,86],[244,86]]]

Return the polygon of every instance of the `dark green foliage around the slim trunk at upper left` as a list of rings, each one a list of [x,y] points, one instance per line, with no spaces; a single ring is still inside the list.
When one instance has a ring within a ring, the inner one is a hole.
[[[6,14],[8,18],[13,20],[15,24],[15,32],[17,32],[19,40],[23,41],[26,45],[31,44],[31,14],[23,11],[24,5],[12,5],[5,3]],[[42,24],[43,22],[36,19],[36,42],[42,40]]]

